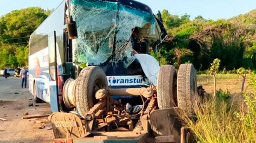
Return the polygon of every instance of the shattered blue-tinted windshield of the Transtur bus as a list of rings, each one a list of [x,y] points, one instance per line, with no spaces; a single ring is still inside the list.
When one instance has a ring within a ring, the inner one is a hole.
[[[114,54],[111,62],[123,61],[128,67],[135,59],[132,29],[144,29],[149,35],[156,32],[154,15],[116,2],[72,0],[71,14],[77,25],[78,38],[73,40],[77,64],[99,65]]]

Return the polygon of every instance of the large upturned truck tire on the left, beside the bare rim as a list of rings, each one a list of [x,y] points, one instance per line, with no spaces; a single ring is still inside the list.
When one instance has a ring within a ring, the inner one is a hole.
[[[108,80],[100,67],[88,66],[81,70],[75,87],[75,101],[82,117],[96,104],[95,93],[103,88],[108,88]]]

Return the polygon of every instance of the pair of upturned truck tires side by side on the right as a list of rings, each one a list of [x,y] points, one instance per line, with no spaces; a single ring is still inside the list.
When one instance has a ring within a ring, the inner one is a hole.
[[[163,65],[157,79],[159,109],[180,107],[188,116],[197,105],[197,79],[193,64],[181,64],[178,73],[173,65]]]

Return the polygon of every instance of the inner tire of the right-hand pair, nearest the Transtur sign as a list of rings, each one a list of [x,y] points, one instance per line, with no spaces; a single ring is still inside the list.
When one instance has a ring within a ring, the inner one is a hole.
[[[177,105],[177,72],[173,65],[162,65],[157,78],[157,103],[159,109]]]

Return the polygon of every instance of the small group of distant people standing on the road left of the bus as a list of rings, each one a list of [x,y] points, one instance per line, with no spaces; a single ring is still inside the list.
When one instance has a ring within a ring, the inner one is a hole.
[[[23,85],[25,86],[25,88],[27,88],[27,75],[28,75],[28,70],[26,69],[26,67],[24,66],[22,69],[20,69],[19,67],[15,69],[15,72],[18,73],[18,77],[22,78],[22,88]],[[7,68],[4,68],[4,77],[7,78],[8,77],[8,73],[7,73]]]

